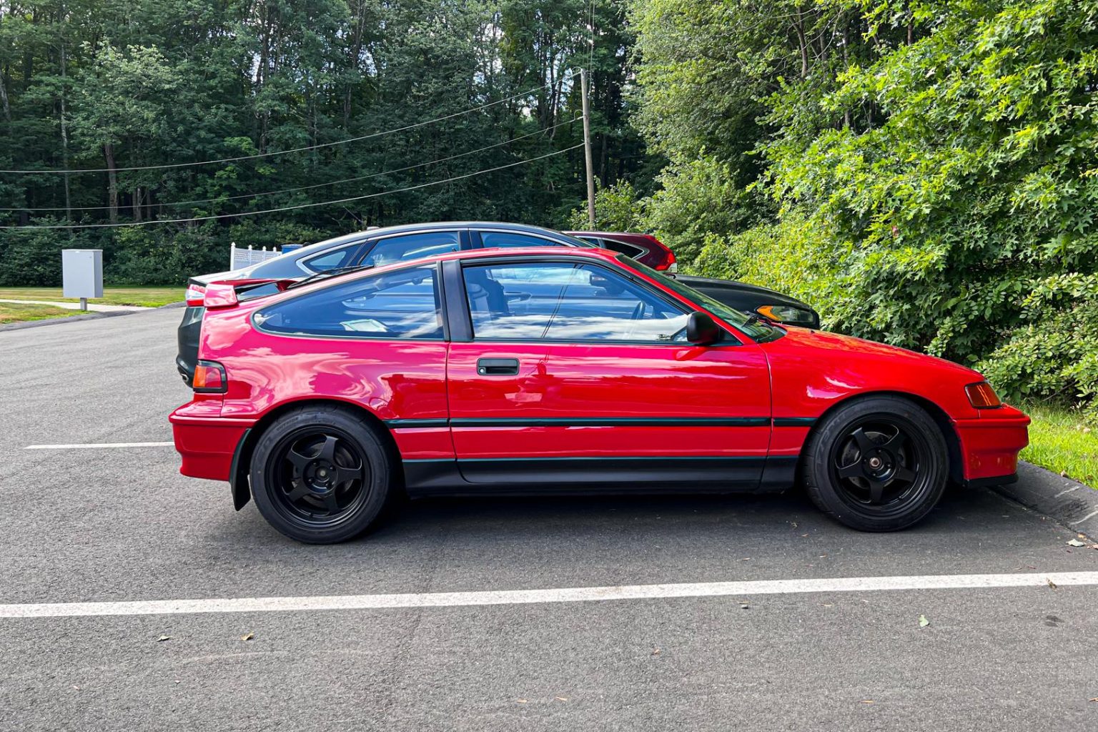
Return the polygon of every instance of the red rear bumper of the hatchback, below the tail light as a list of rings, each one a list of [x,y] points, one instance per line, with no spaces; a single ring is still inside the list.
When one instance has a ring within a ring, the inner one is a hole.
[[[195,414],[201,410],[195,406],[201,404],[184,404],[168,417],[176,451],[183,459],[179,472],[190,477],[228,481],[236,446],[255,420]]]

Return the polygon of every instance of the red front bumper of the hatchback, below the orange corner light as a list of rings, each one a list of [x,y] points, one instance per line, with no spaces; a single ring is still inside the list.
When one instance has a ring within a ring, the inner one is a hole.
[[[966,485],[1000,485],[1018,480],[1018,453],[1029,444],[1030,418],[1011,406],[953,423],[961,439]]]

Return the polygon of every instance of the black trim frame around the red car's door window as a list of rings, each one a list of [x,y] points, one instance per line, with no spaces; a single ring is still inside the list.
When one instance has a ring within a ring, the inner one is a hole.
[[[694,312],[686,309],[686,305],[684,303],[681,303],[677,300],[674,300],[673,297],[669,297],[666,293],[664,293],[662,290],[660,290],[659,288],[653,288],[650,282],[647,282],[636,277],[632,272],[621,267],[617,262],[613,263],[603,262],[595,259],[589,259],[586,257],[583,259],[576,259],[575,257],[553,257],[551,255],[541,257],[498,256],[498,257],[477,257],[477,258],[460,259],[460,260],[453,259],[448,262],[445,262],[447,264],[451,264],[450,268],[451,270],[456,270],[455,273],[451,273],[449,275],[450,288],[448,289],[448,292],[452,291],[455,294],[452,295],[451,300],[447,301],[447,305],[451,306],[450,308],[448,308],[448,312],[452,311],[455,307],[460,308],[460,314],[456,313],[455,316],[450,316],[448,318],[451,324],[450,328],[450,334],[452,336],[451,342],[477,342],[477,344],[539,342],[539,344],[579,344],[584,346],[600,344],[600,345],[614,345],[614,346],[662,346],[662,347],[674,347],[674,348],[684,348],[692,346],[692,344],[690,344],[688,341],[679,341],[679,340],[607,340],[605,338],[483,338],[483,337],[478,338],[475,337],[473,333],[472,313],[469,307],[469,296],[466,293],[466,279],[464,275],[461,273],[461,270],[463,270],[467,267],[483,267],[490,264],[525,264],[525,263],[547,263],[547,262],[567,262],[570,264],[591,263],[595,267],[602,267],[603,269],[620,274],[621,277],[626,278],[634,284],[638,285],[643,290],[647,290],[652,295],[659,297],[664,303],[677,307],[680,309],[684,309],[687,315]],[[444,278],[445,277],[446,275],[444,274]],[[696,309],[701,309],[703,312],[708,313],[708,311],[705,311],[705,308],[699,307],[696,304],[694,305],[694,307]],[[719,348],[721,346],[744,345],[743,341],[740,339],[740,336],[738,336],[737,334],[728,330],[728,328],[722,327],[720,324],[717,324],[717,327],[719,327],[726,335],[721,337],[720,341],[718,341],[715,345],[715,347]],[[461,337],[459,337],[459,335]]]

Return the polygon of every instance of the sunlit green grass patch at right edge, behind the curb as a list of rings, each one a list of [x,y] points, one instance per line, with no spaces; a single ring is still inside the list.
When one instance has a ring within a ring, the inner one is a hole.
[[[1033,418],[1021,459],[1098,488],[1098,429],[1077,412],[1049,405],[1022,407]]]

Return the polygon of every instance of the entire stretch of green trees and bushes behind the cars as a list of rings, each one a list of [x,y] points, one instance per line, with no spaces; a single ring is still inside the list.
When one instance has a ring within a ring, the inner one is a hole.
[[[115,281],[153,282],[220,269],[228,241],[442,218],[585,226],[569,148],[570,72],[587,66],[601,228],[652,230],[687,270],[788,291],[829,327],[972,363],[1013,398],[1096,403],[1098,0],[0,13],[0,168],[101,169],[0,173],[0,225],[224,216],[2,229],[0,284],[56,282],[63,246],[102,247]],[[289,206],[306,207],[250,215]]]

